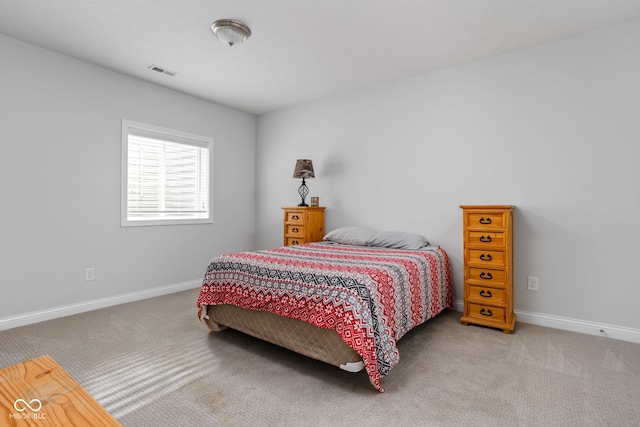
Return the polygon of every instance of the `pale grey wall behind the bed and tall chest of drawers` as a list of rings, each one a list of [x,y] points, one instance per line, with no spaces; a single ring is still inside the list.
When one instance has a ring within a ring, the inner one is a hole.
[[[326,228],[414,231],[451,256],[461,204],[514,204],[515,308],[640,329],[640,21],[258,118],[258,246],[295,160]],[[540,291],[526,288],[540,278]]]

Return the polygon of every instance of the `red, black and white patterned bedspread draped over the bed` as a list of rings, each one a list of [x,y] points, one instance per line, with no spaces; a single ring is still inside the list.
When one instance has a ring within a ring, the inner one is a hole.
[[[211,261],[198,296],[334,329],[360,356],[371,383],[398,363],[396,342],[453,305],[443,249],[399,250],[308,243],[221,255]],[[206,310],[204,311],[206,313]]]

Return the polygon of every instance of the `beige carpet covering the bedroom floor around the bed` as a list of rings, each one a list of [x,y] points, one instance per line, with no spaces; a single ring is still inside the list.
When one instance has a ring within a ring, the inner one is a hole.
[[[124,426],[640,426],[637,344],[450,311],[400,341],[378,393],[364,371],[209,333],[197,293],[0,331],[0,367],[49,354]]]

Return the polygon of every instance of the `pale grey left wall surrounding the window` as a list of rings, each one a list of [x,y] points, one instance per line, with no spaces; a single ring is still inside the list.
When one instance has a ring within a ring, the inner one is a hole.
[[[4,36],[0,53],[0,324],[197,286],[211,258],[254,248],[255,116]],[[120,227],[123,118],[213,137],[213,224]]]

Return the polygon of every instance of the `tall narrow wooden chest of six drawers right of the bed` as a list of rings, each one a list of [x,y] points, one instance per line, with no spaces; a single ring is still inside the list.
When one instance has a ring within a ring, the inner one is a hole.
[[[460,319],[502,329],[515,328],[513,312],[513,209],[460,206],[464,236],[464,313]]]

